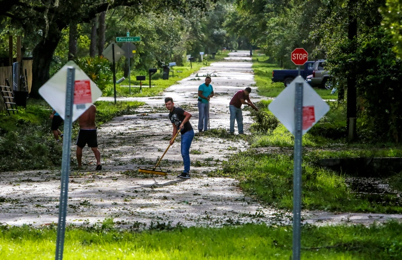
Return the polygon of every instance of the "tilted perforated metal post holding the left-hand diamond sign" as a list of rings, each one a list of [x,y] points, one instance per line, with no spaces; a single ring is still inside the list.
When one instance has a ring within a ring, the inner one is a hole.
[[[56,260],[63,259],[64,235],[66,228],[68,177],[70,174],[71,129],[74,101],[75,68],[67,68],[66,107],[64,116],[63,155],[61,163],[61,191],[59,202],[59,222],[57,224]]]

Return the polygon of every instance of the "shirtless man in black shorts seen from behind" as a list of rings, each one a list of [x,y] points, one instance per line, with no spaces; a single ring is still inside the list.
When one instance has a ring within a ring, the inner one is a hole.
[[[78,168],[82,167],[82,148],[88,144],[91,147],[96,158],[96,170],[102,169],[100,164],[100,152],[97,149],[97,136],[96,136],[96,124],[95,124],[96,107],[91,105],[80,117],[79,117],[79,132],[77,138],[77,161]]]

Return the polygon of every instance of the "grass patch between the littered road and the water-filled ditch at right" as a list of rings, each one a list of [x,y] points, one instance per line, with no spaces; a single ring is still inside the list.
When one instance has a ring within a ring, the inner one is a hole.
[[[317,166],[304,155],[302,170],[302,208],[343,212],[401,213],[396,206],[397,195],[384,195],[387,203],[356,197],[345,183],[345,176]],[[240,187],[263,202],[284,209],[293,205],[293,151],[273,150],[272,153],[240,152],[223,161],[212,177],[231,177]]]

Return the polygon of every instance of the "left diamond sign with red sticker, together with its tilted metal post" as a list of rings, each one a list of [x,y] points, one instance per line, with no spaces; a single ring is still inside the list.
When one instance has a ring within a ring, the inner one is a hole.
[[[97,98],[102,96],[102,91],[77,64],[69,61],[41,86],[39,94],[64,119],[59,220],[56,239],[56,260],[62,260],[67,217],[72,122],[82,115]]]

